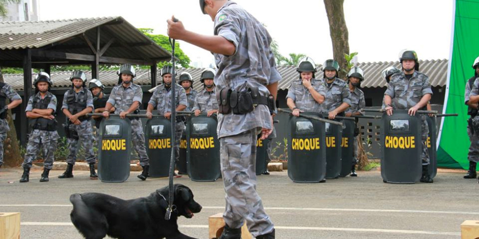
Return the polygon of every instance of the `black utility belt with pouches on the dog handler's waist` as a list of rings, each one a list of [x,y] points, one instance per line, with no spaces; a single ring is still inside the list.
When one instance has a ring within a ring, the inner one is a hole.
[[[231,88],[223,88],[216,95],[218,100],[218,113],[246,114],[254,110],[257,105],[266,105],[273,113],[276,109],[273,95],[261,96],[258,87],[248,88],[246,91],[233,91]]]

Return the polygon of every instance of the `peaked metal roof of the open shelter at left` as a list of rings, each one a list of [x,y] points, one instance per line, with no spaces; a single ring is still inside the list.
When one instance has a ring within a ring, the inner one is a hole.
[[[141,33],[122,17],[81,18],[50,21],[0,22],[0,60],[21,61],[18,49],[44,48],[48,51],[92,55],[84,39],[96,45],[100,29],[100,49],[110,47],[103,57],[118,57],[151,61],[171,57],[171,54]],[[39,61],[39,59],[33,59]]]

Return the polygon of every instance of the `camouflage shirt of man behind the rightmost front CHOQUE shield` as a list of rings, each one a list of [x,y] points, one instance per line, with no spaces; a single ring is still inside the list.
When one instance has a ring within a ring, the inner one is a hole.
[[[404,72],[392,75],[384,93],[392,98],[391,105],[394,109],[409,109],[426,94],[433,94],[429,77],[417,71],[414,71],[409,80]]]

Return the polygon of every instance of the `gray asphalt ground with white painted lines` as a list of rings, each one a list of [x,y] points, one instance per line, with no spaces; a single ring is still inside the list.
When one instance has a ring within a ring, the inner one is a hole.
[[[101,192],[123,199],[149,195],[168,185],[167,178],[140,181],[131,172],[123,183],[89,180],[88,171],[74,178],[40,183],[41,168],[29,183],[19,183],[21,168],[0,168],[0,212],[21,213],[21,238],[83,238],[70,222],[72,193]],[[385,184],[380,171],[358,171],[358,177],[298,184],[287,171],[257,178],[257,190],[276,227],[276,238],[461,238],[464,220],[479,220],[477,180],[462,178],[464,170],[439,170],[433,184]],[[193,190],[203,210],[192,219],[181,217],[180,231],[208,238],[208,216],[224,210],[223,183],[174,179]],[[109,238],[109,237],[108,237]]]

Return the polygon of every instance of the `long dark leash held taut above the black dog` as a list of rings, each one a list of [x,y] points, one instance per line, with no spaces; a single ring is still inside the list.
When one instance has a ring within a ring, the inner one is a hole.
[[[173,22],[178,22],[178,19],[173,18]],[[171,65],[173,68],[172,72],[172,82],[171,82],[171,142],[175,142],[175,129],[176,129],[176,102],[175,102],[175,85],[176,85],[176,70],[175,70],[175,39],[173,41],[171,38],[168,38],[168,41],[171,45]],[[169,184],[168,184],[168,208],[166,209],[165,220],[170,220],[171,212],[173,211],[173,175],[175,173],[175,148],[171,148],[171,159],[170,159],[170,175],[169,175]]]

